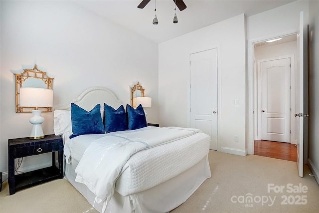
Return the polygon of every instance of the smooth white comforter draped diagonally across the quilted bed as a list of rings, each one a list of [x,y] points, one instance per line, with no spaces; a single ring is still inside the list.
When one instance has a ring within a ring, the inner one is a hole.
[[[103,202],[104,211],[114,193],[115,182],[122,167],[133,154],[197,132],[200,130],[163,127],[117,135],[106,134],[86,149],[75,170],[75,181],[85,184],[95,194],[97,203]]]

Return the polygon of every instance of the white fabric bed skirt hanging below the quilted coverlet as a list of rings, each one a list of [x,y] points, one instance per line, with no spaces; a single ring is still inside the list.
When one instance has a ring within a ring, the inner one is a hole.
[[[78,162],[65,164],[65,178],[84,198],[101,213],[102,204],[94,202],[94,194],[84,185],[75,182]],[[184,203],[207,179],[211,177],[208,155],[195,166],[178,176],[146,191],[129,196],[114,192],[106,213],[167,213]]]

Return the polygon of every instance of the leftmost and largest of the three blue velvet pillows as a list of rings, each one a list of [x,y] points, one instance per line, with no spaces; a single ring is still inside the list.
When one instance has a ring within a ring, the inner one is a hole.
[[[71,103],[72,135],[70,139],[85,134],[105,133],[101,117],[100,104],[97,104],[90,112],[78,105]]]

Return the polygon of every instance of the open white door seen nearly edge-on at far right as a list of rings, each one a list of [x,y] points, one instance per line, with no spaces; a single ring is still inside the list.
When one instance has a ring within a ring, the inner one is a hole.
[[[304,176],[304,51],[304,12],[300,12],[299,34],[297,35],[297,69],[295,72],[295,134],[297,142],[297,167],[300,177]]]

